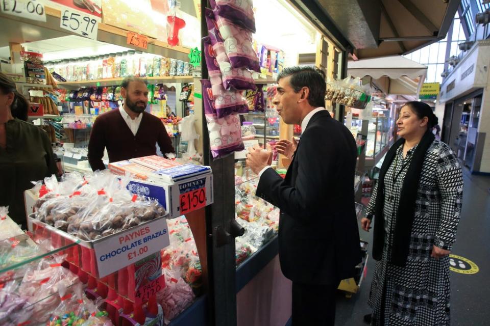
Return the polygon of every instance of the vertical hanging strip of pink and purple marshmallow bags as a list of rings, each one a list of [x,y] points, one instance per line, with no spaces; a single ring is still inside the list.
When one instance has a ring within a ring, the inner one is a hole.
[[[208,36],[204,56],[209,80],[201,80],[204,111],[214,158],[244,149],[238,115],[249,112],[244,92],[256,90],[252,71],[260,72],[252,46],[255,18],[251,0],[210,1],[205,9]],[[263,105],[257,103],[257,110]]]

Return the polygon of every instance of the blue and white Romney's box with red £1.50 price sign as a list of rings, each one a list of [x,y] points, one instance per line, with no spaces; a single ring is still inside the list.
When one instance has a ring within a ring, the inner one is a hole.
[[[185,214],[186,211],[199,209],[214,202],[213,175],[211,173],[175,183],[153,182],[133,178],[128,184],[128,189],[131,193],[138,196],[157,200],[165,207],[169,218],[177,218],[183,215],[182,208]],[[203,199],[203,192],[204,202],[199,200],[199,196],[201,196],[201,200]],[[189,207],[189,204],[191,207]]]

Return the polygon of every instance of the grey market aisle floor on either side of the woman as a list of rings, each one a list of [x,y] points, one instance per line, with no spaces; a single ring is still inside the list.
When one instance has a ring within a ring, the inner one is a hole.
[[[464,194],[456,243],[452,253],[473,261],[478,273],[467,275],[451,271],[451,325],[484,326],[490,320],[490,177],[471,175],[463,170]],[[360,229],[359,229],[360,230]],[[373,233],[359,231],[361,239],[372,243]],[[370,249],[371,254],[371,249]],[[459,264],[459,262],[457,262]],[[361,289],[348,299],[337,296],[336,326],[365,325],[362,317],[370,312],[367,306],[375,261],[367,262],[367,278]],[[469,268],[469,267],[466,267]]]

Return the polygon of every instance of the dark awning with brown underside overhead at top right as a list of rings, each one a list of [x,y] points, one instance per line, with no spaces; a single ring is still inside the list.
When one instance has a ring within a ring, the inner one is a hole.
[[[290,2],[340,47],[353,48],[357,59],[403,55],[444,39],[460,4],[460,0]]]

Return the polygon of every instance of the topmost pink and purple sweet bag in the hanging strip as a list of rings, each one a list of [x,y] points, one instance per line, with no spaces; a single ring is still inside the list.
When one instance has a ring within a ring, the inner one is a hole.
[[[225,17],[242,28],[255,33],[255,17],[252,0],[210,0],[216,15]]]

